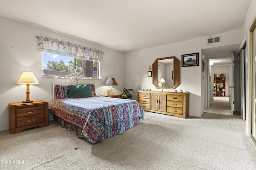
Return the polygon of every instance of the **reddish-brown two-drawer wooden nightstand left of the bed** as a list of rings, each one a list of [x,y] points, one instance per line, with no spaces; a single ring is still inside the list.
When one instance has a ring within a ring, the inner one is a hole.
[[[49,126],[48,102],[38,100],[31,103],[9,104],[9,131],[11,134],[37,126]]]

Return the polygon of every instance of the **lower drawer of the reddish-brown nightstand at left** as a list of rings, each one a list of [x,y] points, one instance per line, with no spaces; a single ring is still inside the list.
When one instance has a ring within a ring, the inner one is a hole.
[[[41,123],[41,122],[45,122],[44,114],[28,116],[28,117],[21,117],[21,118],[16,119],[16,127],[33,125],[33,124]]]

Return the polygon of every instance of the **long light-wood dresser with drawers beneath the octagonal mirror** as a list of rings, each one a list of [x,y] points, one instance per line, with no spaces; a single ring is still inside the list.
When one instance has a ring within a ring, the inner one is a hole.
[[[189,93],[137,91],[137,101],[145,111],[186,118],[189,115]]]

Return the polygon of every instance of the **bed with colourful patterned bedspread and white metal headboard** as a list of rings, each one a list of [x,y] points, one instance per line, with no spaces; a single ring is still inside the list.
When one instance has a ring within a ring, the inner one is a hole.
[[[95,84],[94,78],[80,76],[79,70],[54,79],[50,112],[61,127],[95,144],[144,119],[144,109],[136,100],[97,96]]]

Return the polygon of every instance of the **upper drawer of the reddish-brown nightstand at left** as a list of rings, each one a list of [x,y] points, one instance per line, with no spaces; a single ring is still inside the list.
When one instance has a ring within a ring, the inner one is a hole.
[[[44,106],[24,107],[16,109],[16,117],[44,114]]]

